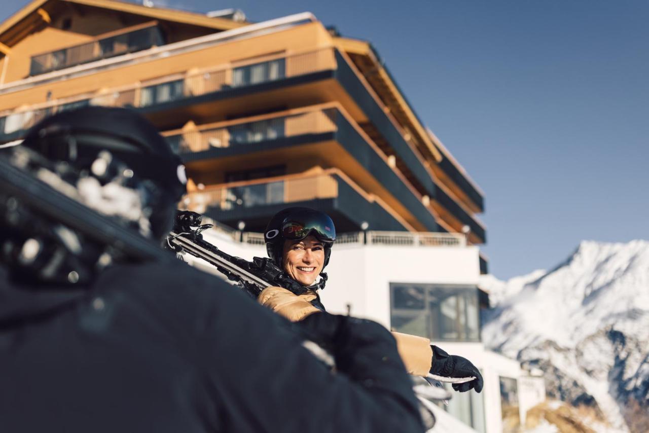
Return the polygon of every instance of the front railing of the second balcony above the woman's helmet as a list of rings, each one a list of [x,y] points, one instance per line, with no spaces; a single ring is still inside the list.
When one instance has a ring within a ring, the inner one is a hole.
[[[324,108],[265,117],[256,121],[223,122],[200,130],[185,130],[165,134],[171,147],[178,153],[195,153],[213,147],[231,147],[278,140],[304,134],[336,131],[336,108]]]

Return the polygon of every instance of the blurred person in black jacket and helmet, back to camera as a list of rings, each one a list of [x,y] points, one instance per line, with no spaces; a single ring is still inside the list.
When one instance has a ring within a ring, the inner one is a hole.
[[[151,240],[167,233],[184,189],[182,169],[139,115],[64,112],[36,125],[24,145],[86,173],[77,187],[89,206]],[[88,193],[97,186],[101,197]],[[135,195],[115,195],[115,188]],[[115,206],[104,206],[110,199]],[[134,204],[141,212],[132,212]],[[173,254],[108,263],[99,251],[88,254],[96,272],[79,278],[66,267],[78,260],[56,253],[75,250],[71,230],[53,223],[60,244],[39,243],[29,225],[6,229],[7,215],[0,229],[0,431],[423,430],[395,341],[380,325],[324,313],[311,319],[318,338],[331,342],[334,373],[304,347],[300,332],[308,327],[297,332]],[[43,254],[42,266],[30,267]],[[297,410],[304,404],[308,410]]]

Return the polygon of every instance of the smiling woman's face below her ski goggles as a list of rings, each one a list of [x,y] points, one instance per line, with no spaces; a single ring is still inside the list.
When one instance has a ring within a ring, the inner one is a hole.
[[[307,236],[301,241],[284,241],[282,264],[289,277],[311,286],[323,270],[324,245],[315,236]]]

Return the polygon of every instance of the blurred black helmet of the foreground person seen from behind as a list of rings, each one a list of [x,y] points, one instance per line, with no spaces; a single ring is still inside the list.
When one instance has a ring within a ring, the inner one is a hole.
[[[34,125],[23,145],[49,160],[89,171],[108,151],[110,160],[145,184],[153,236],[162,238],[171,229],[178,200],[186,192],[184,166],[156,127],[134,110],[87,106],[60,112]]]

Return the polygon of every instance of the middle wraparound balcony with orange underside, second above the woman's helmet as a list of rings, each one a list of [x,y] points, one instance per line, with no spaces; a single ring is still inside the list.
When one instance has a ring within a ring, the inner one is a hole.
[[[432,210],[422,203],[422,197],[398,169],[390,166],[386,156],[339,104],[252,119],[257,120],[238,119],[164,135],[195,174],[228,171],[228,157],[236,158],[239,169],[243,169],[247,158],[258,164],[260,156],[256,155],[261,152],[266,152],[263,160],[267,165],[285,164],[287,158],[299,155],[302,159],[315,158],[323,166],[345,167],[345,172],[361,188],[378,195],[404,216],[406,221],[398,230],[437,230]],[[373,228],[392,230],[391,222],[384,222],[386,226]]]

